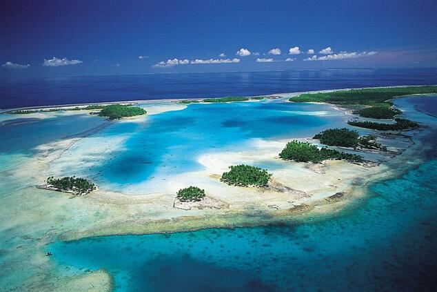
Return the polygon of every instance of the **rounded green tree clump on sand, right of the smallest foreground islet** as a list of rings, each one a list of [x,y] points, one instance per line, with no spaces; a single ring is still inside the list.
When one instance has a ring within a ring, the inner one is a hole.
[[[267,186],[272,175],[267,170],[240,164],[230,166],[230,171],[221,175],[221,181],[235,186]]]

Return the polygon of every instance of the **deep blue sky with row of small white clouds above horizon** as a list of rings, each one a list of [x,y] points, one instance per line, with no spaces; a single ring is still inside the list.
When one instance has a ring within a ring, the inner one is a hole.
[[[0,0],[0,77],[437,67],[437,1]]]

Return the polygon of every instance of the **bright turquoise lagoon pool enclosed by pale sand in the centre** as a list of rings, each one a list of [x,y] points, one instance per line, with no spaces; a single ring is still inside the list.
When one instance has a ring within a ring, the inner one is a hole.
[[[322,115],[317,115],[317,113]],[[329,126],[345,126],[331,106],[283,101],[191,104],[151,115],[146,126],[114,124],[99,135],[130,135],[123,150],[86,171],[99,186],[123,190],[157,173],[171,176],[201,169],[197,157],[216,150],[250,148],[251,138],[312,137]]]

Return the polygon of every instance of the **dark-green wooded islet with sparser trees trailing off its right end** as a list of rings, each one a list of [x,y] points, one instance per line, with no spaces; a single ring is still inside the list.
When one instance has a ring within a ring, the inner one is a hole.
[[[315,135],[313,139],[319,139],[321,144],[328,146],[387,150],[387,147],[376,142],[377,138],[375,135],[360,136],[356,130],[349,130],[347,128],[324,130]]]

